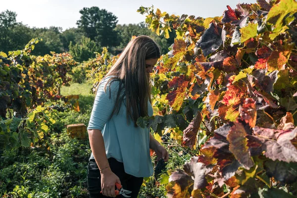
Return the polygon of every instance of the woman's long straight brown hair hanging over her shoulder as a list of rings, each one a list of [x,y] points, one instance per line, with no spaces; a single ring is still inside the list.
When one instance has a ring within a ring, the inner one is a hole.
[[[126,96],[128,124],[132,118],[135,126],[137,126],[137,119],[148,115],[150,84],[145,62],[148,59],[159,57],[160,47],[148,36],[138,36],[127,44],[126,48],[105,76],[115,76],[111,77],[108,82],[111,80],[120,81],[115,106],[111,116],[119,112],[120,104],[124,96]],[[123,96],[121,96],[122,87],[125,88]]]

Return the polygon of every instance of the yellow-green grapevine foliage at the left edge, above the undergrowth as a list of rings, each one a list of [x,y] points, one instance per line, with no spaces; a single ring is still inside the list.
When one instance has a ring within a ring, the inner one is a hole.
[[[49,134],[60,87],[76,65],[70,54],[31,55],[38,39],[23,50],[0,52],[0,150],[29,147]],[[7,118],[8,117],[8,118]]]

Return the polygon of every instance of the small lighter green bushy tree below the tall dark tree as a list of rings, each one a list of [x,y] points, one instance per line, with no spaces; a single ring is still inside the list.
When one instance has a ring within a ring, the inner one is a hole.
[[[75,45],[70,41],[69,50],[73,59],[78,62],[94,58],[96,56],[95,52],[101,51],[100,47],[87,37],[83,37],[82,42]]]

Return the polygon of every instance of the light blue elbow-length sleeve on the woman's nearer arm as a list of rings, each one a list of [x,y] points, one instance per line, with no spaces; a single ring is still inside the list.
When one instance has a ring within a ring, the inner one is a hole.
[[[99,129],[102,131],[113,111],[119,90],[119,81],[111,80],[108,82],[109,79],[110,78],[104,78],[99,84],[88,125],[88,130]],[[107,82],[108,84],[104,91],[104,87]]]

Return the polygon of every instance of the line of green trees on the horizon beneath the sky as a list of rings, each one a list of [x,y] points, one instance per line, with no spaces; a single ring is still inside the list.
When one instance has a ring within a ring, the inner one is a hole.
[[[162,53],[168,52],[168,47],[174,43],[175,33],[170,39],[158,36],[148,30],[144,22],[138,24],[117,24],[117,17],[105,9],[93,6],[80,10],[77,27],[62,30],[61,27],[29,27],[16,21],[17,13],[5,10],[0,12],[0,51],[8,53],[23,49],[32,38],[42,41],[32,51],[34,55],[69,52],[76,61],[82,62],[96,56],[103,47],[116,55],[120,53],[132,36],[148,35],[161,47]]]

